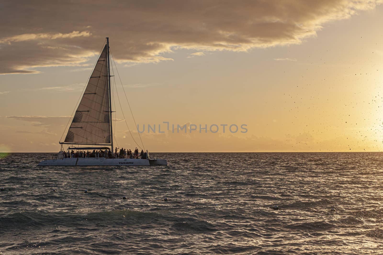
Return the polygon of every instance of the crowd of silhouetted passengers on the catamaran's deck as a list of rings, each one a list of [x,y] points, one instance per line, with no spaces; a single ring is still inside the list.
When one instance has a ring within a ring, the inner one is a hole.
[[[118,152],[118,149],[116,147],[115,153],[112,153],[110,149],[105,149],[104,151],[102,149],[100,150],[93,150],[90,151],[68,151],[65,153],[65,151],[62,152],[62,156],[64,158],[118,158],[118,159],[146,159],[146,153],[141,149],[141,153],[138,154],[138,149],[136,148],[134,152],[132,152],[130,149],[124,149],[121,148]]]

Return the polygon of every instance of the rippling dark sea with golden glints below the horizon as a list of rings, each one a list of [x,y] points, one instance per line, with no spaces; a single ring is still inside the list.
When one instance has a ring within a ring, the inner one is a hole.
[[[0,159],[0,254],[383,253],[383,153],[154,156],[169,166]]]

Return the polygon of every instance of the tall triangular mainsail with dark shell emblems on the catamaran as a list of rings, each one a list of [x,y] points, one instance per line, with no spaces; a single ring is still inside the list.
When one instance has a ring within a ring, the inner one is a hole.
[[[64,144],[110,145],[108,49],[103,49],[70,124]]]

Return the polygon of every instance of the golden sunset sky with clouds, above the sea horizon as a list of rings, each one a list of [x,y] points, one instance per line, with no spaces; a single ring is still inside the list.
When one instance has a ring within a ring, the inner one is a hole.
[[[105,37],[140,127],[247,125],[146,130],[149,151],[382,151],[380,3],[1,1],[0,152],[59,151]],[[133,150],[114,94],[117,145]]]

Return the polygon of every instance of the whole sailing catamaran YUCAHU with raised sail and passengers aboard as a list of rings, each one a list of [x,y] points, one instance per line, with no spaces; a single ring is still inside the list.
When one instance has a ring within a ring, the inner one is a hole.
[[[150,158],[148,151],[136,158],[126,158],[113,152],[110,63],[109,37],[106,37],[105,47],[88,80],[65,140],[59,142],[61,150],[56,158],[41,161],[38,166],[167,165],[166,159]],[[64,145],[69,146],[67,153]],[[93,152],[79,154],[70,153],[70,150]]]

